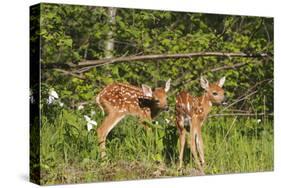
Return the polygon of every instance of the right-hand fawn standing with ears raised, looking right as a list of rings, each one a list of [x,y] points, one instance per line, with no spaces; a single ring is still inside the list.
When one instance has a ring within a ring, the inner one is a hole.
[[[183,151],[185,146],[186,128],[185,122],[190,129],[190,150],[199,170],[204,173],[204,148],[201,135],[201,127],[208,113],[211,111],[212,104],[220,104],[224,100],[224,90],[222,86],[225,77],[218,82],[210,83],[201,77],[200,84],[205,93],[200,97],[193,97],[188,92],[181,91],[176,97],[176,125],[179,131],[179,167],[182,167]],[[199,154],[199,160],[198,160]]]

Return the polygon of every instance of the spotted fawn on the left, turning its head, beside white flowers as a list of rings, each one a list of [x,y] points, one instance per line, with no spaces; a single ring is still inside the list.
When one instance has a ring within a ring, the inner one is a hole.
[[[113,83],[106,86],[96,97],[96,102],[106,112],[106,117],[97,129],[101,158],[106,155],[105,142],[108,133],[127,115],[139,117],[140,120],[152,120],[161,110],[168,109],[167,92],[169,79],[165,88],[154,91],[142,85],[138,88],[129,84]]]

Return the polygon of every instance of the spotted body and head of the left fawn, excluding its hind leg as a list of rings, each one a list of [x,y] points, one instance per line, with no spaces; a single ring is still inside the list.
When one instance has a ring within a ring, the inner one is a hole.
[[[153,118],[160,110],[167,109],[167,94],[170,81],[165,88],[142,85],[142,88],[124,83],[106,86],[97,96],[96,102],[107,114],[122,113]]]

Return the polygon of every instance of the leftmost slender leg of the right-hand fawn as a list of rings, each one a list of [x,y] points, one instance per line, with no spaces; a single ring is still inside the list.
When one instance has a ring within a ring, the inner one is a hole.
[[[184,152],[184,146],[185,146],[185,134],[186,130],[184,128],[184,117],[181,115],[178,115],[176,117],[176,125],[179,130],[179,142],[180,142],[180,148],[179,148],[179,168],[182,167],[182,161],[183,161],[183,152]]]

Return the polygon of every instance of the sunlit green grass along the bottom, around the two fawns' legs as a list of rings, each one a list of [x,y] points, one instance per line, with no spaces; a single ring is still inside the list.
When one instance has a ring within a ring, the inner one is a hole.
[[[98,123],[102,118],[93,116]],[[177,170],[177,129],[173,122],[158,121],[146,130],[134,117],[122,120],[108,136],[107,159],[102,161],[96,127],[88,132],[80,112],[63,110],[52,120],[42,116],[41,184],[198,175],[188,147],[184,169]],[[273,170],[272,120],[209,118],[203,140],[206,174]]]

